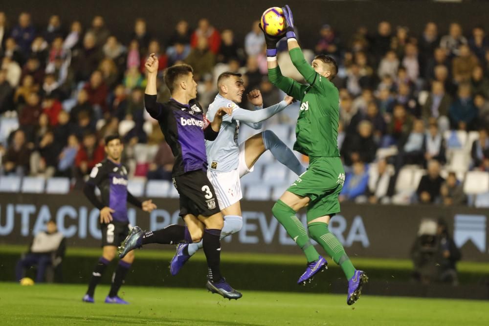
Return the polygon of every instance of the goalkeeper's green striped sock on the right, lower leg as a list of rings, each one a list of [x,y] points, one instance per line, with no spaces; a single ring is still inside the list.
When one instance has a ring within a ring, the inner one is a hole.
[[[328,229],[328,224],[323,222],[314,222],[308,225],[309,234],[311,238],[324,248],[328,255],[333,258],[333,261],[340,265],[341,269],[345,273],[347,281],[355,274],[355,267],[353,267],[352,261],[346,255],[345,249],[341,245],[341,242],[336,239],[333,233]]]

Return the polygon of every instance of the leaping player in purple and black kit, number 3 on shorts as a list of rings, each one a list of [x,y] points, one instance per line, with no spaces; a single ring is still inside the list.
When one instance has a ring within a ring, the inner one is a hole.
[[[206,287],[227,299],[239,299],[242,294],[233,289],[222,277],[221,230],[224,219],[216,194],[207,178],[207,155],[204,140],[216,139],[221,128],[222,116],[230,114],[230,108],[220,108],[210,125],[203,118],[203,110],[197,97],[197,83],[190,65],[174,65],[165,70],[164,80],[172,97],[166,103],[156,102],[156,74],[158,60],[154,54],[146,61],[148,84],[144,95],[145,107],[158,120],[165,140],[175,156],[173,183],[180,195],[180,216],[187,227],[170,225],[164,229],[143,232],[134,227],[119,248],[119,257],[134,248],[148,243],[172,244],[199,242],[202,239],[207,259],[208,280]],[[206,128],[207,127],[207,128]],[[200,224],[204,224],[202,232]]]

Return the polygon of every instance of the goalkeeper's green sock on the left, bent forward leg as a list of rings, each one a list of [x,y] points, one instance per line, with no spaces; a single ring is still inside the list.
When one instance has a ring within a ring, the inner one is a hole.
[[[295,243],[297,243],[302,251],[304,251],[307,261],[317,261],[319,253],[311,244],[306,228],[295,216],[295,211],[279,199],[275,205],[273,205],[272,212],[280,224],[284,226],[290,238],[294,239]]]

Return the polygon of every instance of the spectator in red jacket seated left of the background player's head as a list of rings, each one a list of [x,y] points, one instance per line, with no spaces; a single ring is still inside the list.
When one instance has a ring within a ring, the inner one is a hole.
[[[75,158],[75,177],[77,186],[83,186],[83,177],[93,169],[95,164],[104,159],[104,147],[97,144],[97,137],[94,133],[87,133],[83,136],[83,143],[76,153]]]

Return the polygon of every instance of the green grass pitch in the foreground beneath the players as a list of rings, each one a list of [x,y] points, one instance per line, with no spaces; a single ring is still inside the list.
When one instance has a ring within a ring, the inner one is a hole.
[[[485,301],[245,291],[228,301],[205,289],[126,286],[127,306],[81,302],[85,285],[0,283],[2,325],[489,325]]]

